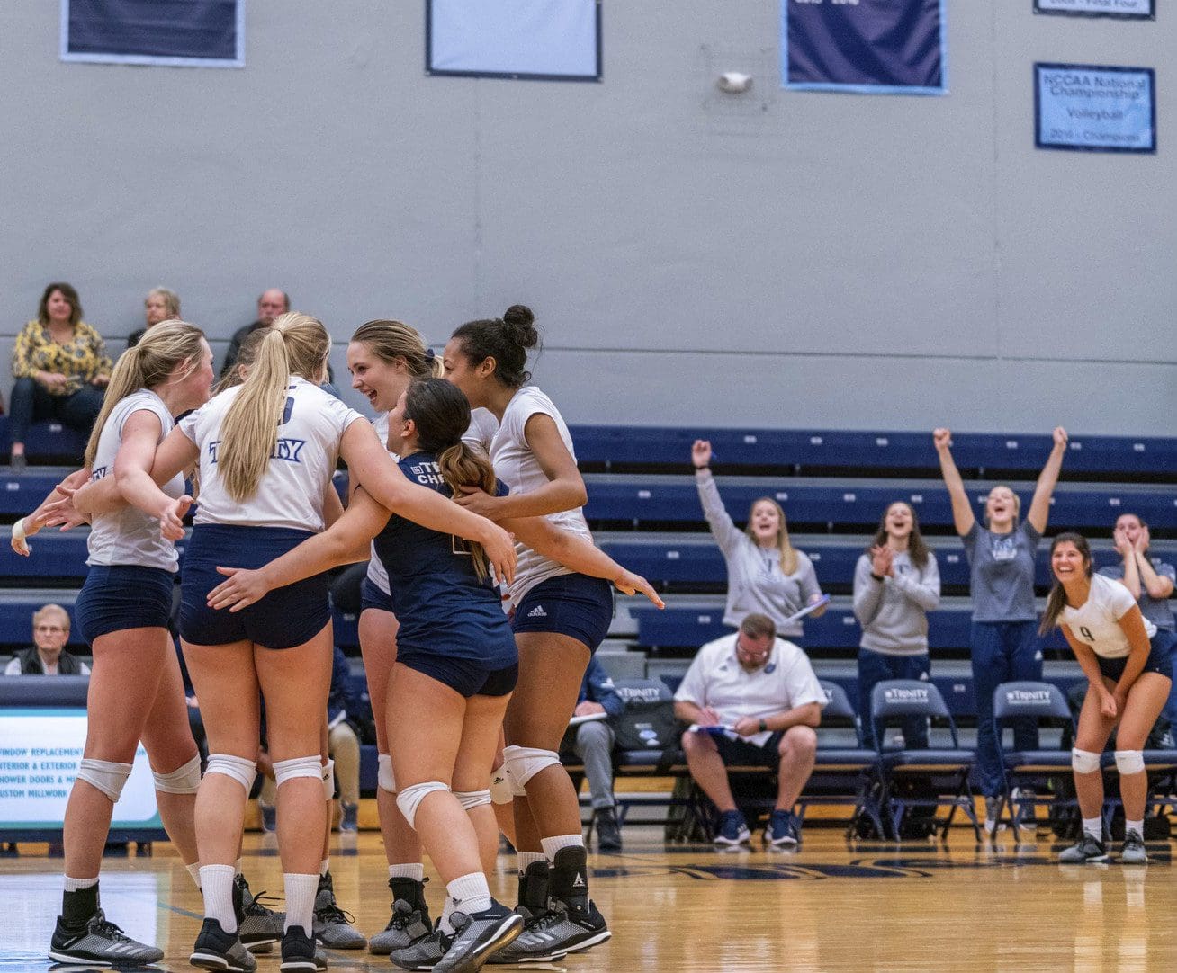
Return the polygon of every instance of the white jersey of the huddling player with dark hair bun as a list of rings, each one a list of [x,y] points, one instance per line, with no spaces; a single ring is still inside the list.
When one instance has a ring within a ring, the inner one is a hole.
[[[567,448],[568,454],[573,461],[577,458],[572,448],[572,436],[568,434],[568,427],[565,425],[559,409],[552,404],[552,400],[534,386],[520,388],[516,392],[503,413],[503,422],[491,440],[490,451],[491,462],[494,464],[494,473],[511,488],[512,495],[532,493],[547,484],[547,474],[540,467],[536,454],[531,452],[527,438],[524,434],[527,420],[540,413],[551,416],[552,421],[556,422],[556,428],[559,431],[560,439],[564,440],[564,446]],[[585,521],[580,507],[547,514],[546,519],[561,531],[584,538],[590,544],[592,542],[592,532],[588,529],[588,524]],[[560,574],[572,574],[568,568],[550,558],[545,558],[543,554],[537,554],[530,547],[521,544],[516,545],[516,554],[518,564],[516,565],[514,582],[511,585],[511,600],[516,605],[540,581],[546,581],[548,578],[556,578]]]

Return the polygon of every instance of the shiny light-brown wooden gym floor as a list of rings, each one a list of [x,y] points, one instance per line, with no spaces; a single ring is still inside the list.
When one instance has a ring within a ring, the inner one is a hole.
[[[971,832],[958,832],[946,846],[852,846],[840,831],[811,826],[799,852],[770,853],[759,835],[750,851],[717,852],[666,846],[660,828],[627,827],[623,853],[590,855],[592,895],[613,938],[561,968],[1177,969],[1171,846],[1150,845],[1146,867],[1060,867],[1045,833],[1037,844],[998,835],[978,846]],[[48,858],[45,845],[21,851],[0,858],[2,973],[49,968],[45,949],[61,901],[61,859]],[[388,891],[379,835],[334,835],[331,869],[355,925],[383,928]],[[255,892],[281,889],[272,839],[246,835],[245,873]],[[506,857],[492,892],[514,904]],[[427,894],[438,909],[441,893],[434,877]],[[171,846],[157,845],[147,858],[108,858],[102,904],[129,934],[166,949],[162,968],[192,968],[201,904]],[[333,951],[330,961],[338,971],[392,968],[366,952]],[[277,968],[277,952],[259,958],[259,973]]]

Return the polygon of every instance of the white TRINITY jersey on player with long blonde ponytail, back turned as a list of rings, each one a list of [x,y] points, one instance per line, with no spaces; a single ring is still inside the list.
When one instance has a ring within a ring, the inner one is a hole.
[[[292,376],[278,427],[278,444],[257,493],[239,504],[218,475],[221,426],[241,386],[228,388],[186,416],[180,431],[200,449],[200,507],[195,522],[288,527],[318,533],[322,498],[339,458],[339,440],[355,421],[367,421],[334,395]]]

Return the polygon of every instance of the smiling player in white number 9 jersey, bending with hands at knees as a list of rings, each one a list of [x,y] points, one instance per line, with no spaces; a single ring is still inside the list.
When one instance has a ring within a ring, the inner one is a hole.
[[[1116,768],[1124,802],[1121,861],[1143,865],[1148,774],[1141,751],[1169,699],[1172,669],[1169,638],[1141,614],[1119,581],[1092,574],[1091,548],[1079,534],[1063,533],[1050,546],[1055,586],[1046,599],[1040,632],[1063,629],[1088,677],[1071,764],[1083,814],[1078,844],[1062,862],[1106,861],[1103,842],[1103,773],[1099,758],[1116,731]]]

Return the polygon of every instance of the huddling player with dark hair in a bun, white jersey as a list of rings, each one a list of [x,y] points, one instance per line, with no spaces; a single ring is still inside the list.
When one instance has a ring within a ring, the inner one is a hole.
[[[531,311],[514,305],[501,319],[463,325],[445,347],[446,378],[472,407],[499,420],[490,454],[510,487],[507,497],[468,491],[458,502],[496,520],[546,517],[591,541],[580,512],[587,494],[567,426],[547,395],[525,385],[527,349],[538,341]],[[588,659],[609,633],[612,593],[600,579],[572,573],[523,545],[517,549],[511,599],[519,682],[504,721],[504,760],[517,794],[519,906],[528,927],[496,962],[543,961],[610,935],[588,898],[580,806],[558,751]]]

